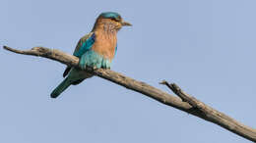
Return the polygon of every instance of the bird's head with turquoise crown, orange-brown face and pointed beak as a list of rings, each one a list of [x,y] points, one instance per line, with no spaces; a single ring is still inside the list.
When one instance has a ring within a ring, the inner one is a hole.
[[[109,25],[110,28],[113,28],[116,30],[119,30],[122,26],[132,25],[128,22],[125,22],[118,13],[114,13],[114,12],[101,13],[96,19],[95,27],[97,24]]]

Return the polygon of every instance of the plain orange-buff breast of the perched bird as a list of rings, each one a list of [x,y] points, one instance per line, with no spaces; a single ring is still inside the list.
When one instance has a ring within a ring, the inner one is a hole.
[[[96,32],[96,42],[92,49],[105,59],[112,60],[115,55],[116,33]]]

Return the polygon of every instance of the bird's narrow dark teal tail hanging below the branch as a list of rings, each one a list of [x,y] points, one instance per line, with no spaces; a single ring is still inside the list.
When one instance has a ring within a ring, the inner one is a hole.
[[[51,98],[57,98],[72,82],[66,77],[50,94]]]

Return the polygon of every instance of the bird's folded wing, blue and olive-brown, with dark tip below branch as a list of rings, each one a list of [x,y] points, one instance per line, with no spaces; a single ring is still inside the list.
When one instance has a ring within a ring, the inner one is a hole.
[[[83,54],[85,54],[87,51],[89,51],[92,48],[95,41],[96,41],[96,34],[94,32],[90,32],[89,34],[86,34],[79,40],[73,55],[78,58],[81,58]],[[71,70],[71,67],[67,67],[66,70],[63,72],[63,77],[65,77],[70,70]]]

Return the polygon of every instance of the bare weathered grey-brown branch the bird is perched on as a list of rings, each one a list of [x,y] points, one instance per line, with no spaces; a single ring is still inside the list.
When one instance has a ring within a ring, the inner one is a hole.
[[[77,57],[71,56],[59,50],[48,49],[43,47],[34,47],[32,48],[32,50],[27,50],[27,51],[17,50],[7,46],[4,46],[3,48],[14,53],[44,57],[54,61],[58,61],[68,66],[78,68],[79,59]],[[86,71],[90,71],[99,77],[112,81],[128,89],[134,90],[136,92],[140,92],[167,106],[176,108],[178,110],[189,113],[201,119],[205,119],[213,123],[219,124],[223,126],[225,129],[239,136],[242,136],[248,140],[256,142],[256,129],[246,126],[236,121],[235,119],[231,119],[226,115],[224,115],[223,113],[217,110],[214,110],[213,108],[200,102],[196,98],[183,92],[174,83],[169,84],[166,81],[160,82],[161,84],[168,86],[180,98],[167,94],[161,91],[160,89],[153,87],[145,82],[137,81],[133,78],[122,75],[121,73],[118,73],[115,71],[103,70],[103,69],[98,69],[95,71],[92,69],[89,69]]]

